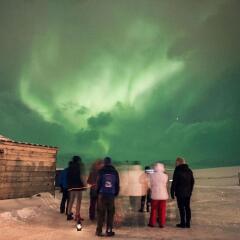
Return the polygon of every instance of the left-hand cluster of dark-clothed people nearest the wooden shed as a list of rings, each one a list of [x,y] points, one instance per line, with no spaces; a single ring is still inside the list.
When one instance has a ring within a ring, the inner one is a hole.
[[[79,156],[74,156],[60,175],[60,187],[62,200],[60,213],[67,214],[67,220],[75,219],[81,223],[84,219],[80,214],[82,192],[90,186],[90,207],[89,218],[95,220],[95,208],[97,206],[97,236],[104,236],[102,233],[105,215],[107,215],[106,235],[114,236],[113,221],[115,213],[114,199],[119,194],[120,181],[117,170],[112,165],[110,157],[103,161],[97,161],[88,176],[87,183],[84,180],[85,167]],[[73,203],[76,202],[75,217],[72,212]]]

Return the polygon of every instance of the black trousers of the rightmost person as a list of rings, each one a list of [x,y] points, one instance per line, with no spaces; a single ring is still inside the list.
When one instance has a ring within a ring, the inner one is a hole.
[[[191,221],[190,199],[191,197],[177,197],[177,203],[182,225],[190,225]]]

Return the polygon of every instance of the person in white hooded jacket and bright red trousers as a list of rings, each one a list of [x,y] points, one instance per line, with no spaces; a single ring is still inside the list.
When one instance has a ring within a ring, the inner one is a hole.
[[[154,227],[159,217],[159,227],[163,228],[166,224],[166,202],[168,199],[167,191],[168,175],[165,173],[164,165],[157,163],[154,166],[154,173],[150,174],[151,187],[151,215],[149,227]]]

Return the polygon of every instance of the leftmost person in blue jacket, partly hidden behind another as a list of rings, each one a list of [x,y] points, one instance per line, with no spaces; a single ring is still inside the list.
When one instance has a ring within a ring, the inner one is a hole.
[[[68,200],[69,200],[69,194],[68,194],[68,184],[67,184],[67,173],[68,169],[71,166],[72,161],[68,163],[68,167],[65,168],[59,177],[59,185],[61,188],[62,192],[62,200],[60,204],[60,213],[67,213],[67,208],[68,208]],[[66,206],[67,203],[67,206]]]

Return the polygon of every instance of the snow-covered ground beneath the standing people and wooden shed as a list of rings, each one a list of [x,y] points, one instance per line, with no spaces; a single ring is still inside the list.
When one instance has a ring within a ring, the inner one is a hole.
[[[96,223],[87,219],[88,192],[84,193],[83,230],[77,232],[73,221],[59,213],[59,193],[28,199],[0,201],[0,240],[74,240],[96,239]],[[176,229],[178,211],[169,200],[164,229],[148,228],[147,213],[129,207],[127,197],[116,202],[118,226],[115,239],[240,239],[240,187],[197,186],[192,199],[192,228]]]

